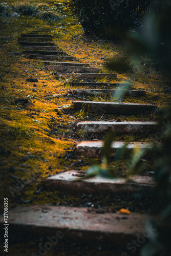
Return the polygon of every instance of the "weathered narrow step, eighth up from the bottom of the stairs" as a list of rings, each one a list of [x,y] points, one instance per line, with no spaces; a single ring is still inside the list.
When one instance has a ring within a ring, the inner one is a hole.
[[[58,74],[59,76],[63,76],[63,74]],[[66,73],[65,77],[71,77],[71,73]],[[87,73],[75,73],[72,74],[72,78],[76,80],[80,79],[90,79],[90,80],[95,80],[95,79],[102,79],[102,78],[110,78],[110,79],[116,79],[117,75],[116,74],[104,74],[104,73],[92,73],[92,74],[87,74]]]

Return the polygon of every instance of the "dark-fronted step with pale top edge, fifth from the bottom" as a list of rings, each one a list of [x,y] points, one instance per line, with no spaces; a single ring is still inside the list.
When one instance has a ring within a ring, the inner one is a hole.
[[[74,110],[78,111],[84,108],[85,111],[105,114],[142,114],[152,112],[157,108],[156,105],[136,104],[136,103],[118,103],[118,102],[99,102],[99,101],[74,101]]]

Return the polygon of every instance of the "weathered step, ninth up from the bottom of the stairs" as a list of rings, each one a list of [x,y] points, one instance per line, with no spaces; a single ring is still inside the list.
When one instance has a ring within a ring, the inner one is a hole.
[[[48,70],[51,71],[56,71],[60,73],[73,73],[76,72],[81,72],[81,73],[95,73],[99,72],[101,69],[97,68],[88,68],[88,67],[75,67],[75,66],[54,66],[54,65],[49,65],[47,66]]]

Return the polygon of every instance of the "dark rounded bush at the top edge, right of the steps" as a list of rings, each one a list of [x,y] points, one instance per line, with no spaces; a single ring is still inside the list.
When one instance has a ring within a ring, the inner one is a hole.
[[[140,25],[150,0],[69,0],[67,7],[78,18],[86,34],[119,37]]]

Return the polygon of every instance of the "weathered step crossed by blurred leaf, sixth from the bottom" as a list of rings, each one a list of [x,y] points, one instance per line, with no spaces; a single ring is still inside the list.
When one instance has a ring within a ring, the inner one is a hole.
[[[103,96],[117,96],[117,93],[121,92],[121,90],[105,90],[105,89],[74,89],[71,90],[70,93],[76,95],[88,94],[88,95],[103,95]],[[140,97],[146,95],[145,91],[137,91],[137,90],[125,90],[122,91],[123,96],[133,96]]]

